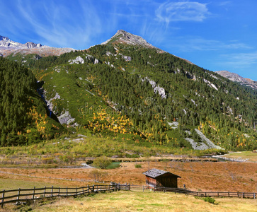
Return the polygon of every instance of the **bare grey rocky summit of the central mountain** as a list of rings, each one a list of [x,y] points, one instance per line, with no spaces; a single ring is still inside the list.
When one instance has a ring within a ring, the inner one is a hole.
[[[113,35],[113,37],[101,43],[101,45],[106,45],[108,43],[126,43],[128,45],[140,45],[146,48],[158,49],[159,51],[161,51],[161,49],[154,47],[139,35],[127,33],[125,30],[118,30],[117,33]]]

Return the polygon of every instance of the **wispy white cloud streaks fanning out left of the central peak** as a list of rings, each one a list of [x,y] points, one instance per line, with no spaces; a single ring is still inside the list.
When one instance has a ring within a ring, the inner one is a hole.
[[[12,35],[24,34],[26,41],[42,45],[84,49],[97,42],[106,28],[113,26],[108,18],[100,17],[101,13],[91,1],[62,4],[62,1],[18,0],[12,10],[6,8],[0,14],[6,23],[0,26],[8,28],[11,32],[8,36],[12,39]]]

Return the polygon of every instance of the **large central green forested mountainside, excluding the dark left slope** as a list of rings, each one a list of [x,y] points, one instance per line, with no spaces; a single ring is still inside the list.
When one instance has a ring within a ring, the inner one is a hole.
[[[126,115],[141,138],[155,145],[190,148],[189,138],[200,146],[198,129],[228,150],[256,148],[257,92],[251,88],[135,45],[97,45],[63,58],[64,64],[56,60],[47,70],[51,57],[33,66],[50,91],[47,98],[61,96],[53,102],[57,112],[69,108],[80,127],[106,131],[109,118],[96,117],[101,108],[110,116]]]

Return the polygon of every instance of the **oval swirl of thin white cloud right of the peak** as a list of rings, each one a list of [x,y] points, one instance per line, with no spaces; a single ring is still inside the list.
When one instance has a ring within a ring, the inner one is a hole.
[[[202,21],[210,14],[207,4],[199,2],[166,2],[156,9],[157,20],[169,24],[172,21]]]

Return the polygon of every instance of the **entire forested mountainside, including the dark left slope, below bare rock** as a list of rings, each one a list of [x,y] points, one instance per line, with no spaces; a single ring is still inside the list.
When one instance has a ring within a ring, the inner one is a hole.
[[[188,149],[186,138],[206,143],[200,131],[226,150],[257,148],[257,90],[167,52],[109,42],[59,57],[23,57],[0,58],[1,146],[57,138],[69,127]],[[78,57],[83,62],[72,61]],[[74,120],[61,125],[57,117],[65,112]]]

